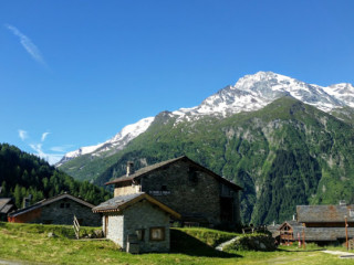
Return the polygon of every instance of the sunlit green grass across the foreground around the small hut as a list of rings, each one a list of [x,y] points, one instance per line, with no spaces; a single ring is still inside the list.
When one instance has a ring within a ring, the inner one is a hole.
[[[93,230],[84,227],[82,233]],[[48,237],[49,232],[58,236]],[[0,222],[0,259],[27,264],[354,264],[354,259],[322,253],[315,245],[306,251],[222,253],[214,247],[236,234],[207,229],[174,229],[170,254],[132,255],[110,241],[77,241],[73,235],[70,226]]]

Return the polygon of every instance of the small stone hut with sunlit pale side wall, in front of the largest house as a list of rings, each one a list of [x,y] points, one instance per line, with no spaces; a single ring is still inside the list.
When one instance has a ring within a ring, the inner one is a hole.
[[[115,197],[93,212],[103,214],[106,239],[129,253],[169,252],[169,216],[180,218],[144,192]]]

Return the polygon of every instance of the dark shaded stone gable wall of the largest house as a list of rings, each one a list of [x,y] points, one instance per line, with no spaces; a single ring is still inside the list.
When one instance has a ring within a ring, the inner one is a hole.
[[[142,191],[184,216],[220,223],[220,183],[197,167],[177,161],[142,178]]]

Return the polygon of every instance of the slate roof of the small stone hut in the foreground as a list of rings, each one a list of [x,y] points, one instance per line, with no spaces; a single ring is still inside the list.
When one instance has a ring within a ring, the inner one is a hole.
[[[180,214],[175,212],[173,209],[168,208],[164,203],[159,202],[155,198],[146,194],[145,192],[132,193],[126,195],[114,197],[100,205],[92,209],[94,213],[96,212],[123,212],[126,208],[143,201],[147,200],[150,203],[157,205],[163,211],[171,214],[173,216],[180,219]]]

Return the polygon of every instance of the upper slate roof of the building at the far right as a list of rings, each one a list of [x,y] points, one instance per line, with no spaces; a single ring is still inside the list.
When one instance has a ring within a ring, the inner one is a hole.
[[[298,205],[296,214],[300,223],[344,223],[344,215],[354,222],[354,205]]]

